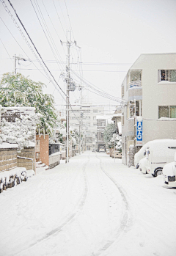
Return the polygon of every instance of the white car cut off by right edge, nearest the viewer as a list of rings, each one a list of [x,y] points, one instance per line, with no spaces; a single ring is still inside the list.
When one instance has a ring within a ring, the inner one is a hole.
[[[176,188],[176,153],[175,161],[166,164],[163,169],[164,184],[168,188]]]

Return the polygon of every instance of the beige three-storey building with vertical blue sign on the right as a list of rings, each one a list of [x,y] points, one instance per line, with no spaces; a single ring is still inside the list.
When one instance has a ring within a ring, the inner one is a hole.
[[[122,82],[122,163],[153,139],[176,139],[176,54],[142,54]]]

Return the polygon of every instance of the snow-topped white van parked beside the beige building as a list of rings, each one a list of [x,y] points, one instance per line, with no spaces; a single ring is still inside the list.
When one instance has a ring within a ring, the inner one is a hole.
[[[173,161],[176,152],[176,139],[156,139],[146,150],[147,173],[153,176],[162,174],[165,164]]]

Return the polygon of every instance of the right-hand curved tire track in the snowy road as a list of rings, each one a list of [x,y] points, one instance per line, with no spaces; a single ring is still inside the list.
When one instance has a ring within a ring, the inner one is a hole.
[[[128,231],[128,227],[129,227],[128,220],[130,219],[130,216],[129,216],[130,209],[129,209],[129,205],[128,205],[128,200],[125,197],[125,193],[122,191],[122,187],[120,186],[120,184],[117,183],[116,180],[111,178],[111,176],[103,169],[101,159],[98,156],[96,156],[96,157],[100,161],[100,169],[102,169],[102,171],[106,175],[106,177],[108,177],[111,180],[111,182],[114,183],[114,185],[117,187],[118,191],[120,192],[120,195],[122,197],[122,202],[124,205],[124,209],[122,211],[122,220],[121,220],[120,228],[117,230],[114,237],[110,238],[106,242],[106,244],[104,244],[100,249],[97,250],[97,252],[92,252],[91,256],[99,256],[103,252],[106,252],[106,249],[108,249],[112,244],[114,244],[114,242],[117,241],[117,239],[120,238],[120,236],[123,233]]]

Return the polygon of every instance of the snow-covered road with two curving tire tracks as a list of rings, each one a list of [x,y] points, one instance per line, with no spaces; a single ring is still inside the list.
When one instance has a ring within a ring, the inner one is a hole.
[[[0,255],[175,256],[176,190],[87,151],[0,194]]]

